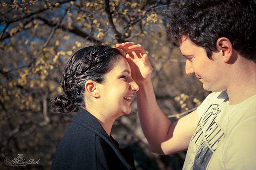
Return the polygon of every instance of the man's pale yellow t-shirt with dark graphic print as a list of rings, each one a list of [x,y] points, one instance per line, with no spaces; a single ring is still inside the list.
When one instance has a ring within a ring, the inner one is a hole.
[[[256,170],[256,95],[229,105],[226,92],[211,93],[197,112],[183,170]]]

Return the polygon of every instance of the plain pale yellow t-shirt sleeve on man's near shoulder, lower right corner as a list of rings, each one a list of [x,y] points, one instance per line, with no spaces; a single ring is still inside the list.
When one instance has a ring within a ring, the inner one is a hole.
[[[256,116],[247,119],[230,133],[223,150],[225,170],[256,169]]]

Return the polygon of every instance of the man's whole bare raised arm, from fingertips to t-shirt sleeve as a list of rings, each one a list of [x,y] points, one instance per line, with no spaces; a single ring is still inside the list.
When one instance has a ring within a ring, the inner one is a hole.
[[[150,79],[152,67],[141,45],[133,42],[117,44],[131,67],[133,79],[140,85],[137,105],[143,133],[151,151],[158,154],[177,153],[186,150],[199,121],[196,111],[171,122],[159,108]]]

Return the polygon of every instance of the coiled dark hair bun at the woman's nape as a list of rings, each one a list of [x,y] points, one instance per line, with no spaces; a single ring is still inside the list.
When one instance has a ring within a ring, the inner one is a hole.
[[[67,96],[56,96],[52,101],[53,110],[56,113],[76,112],[78,107]]]

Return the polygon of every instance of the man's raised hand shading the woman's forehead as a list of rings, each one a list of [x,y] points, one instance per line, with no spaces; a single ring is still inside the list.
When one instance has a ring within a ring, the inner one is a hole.
[[[116,44],[116,47],[122,49],[122,51],[119,51],[128,61],[133,79],[138,84],[148,81],[153,68],[142,45],[134,44],[134,42],[124,42]]]

